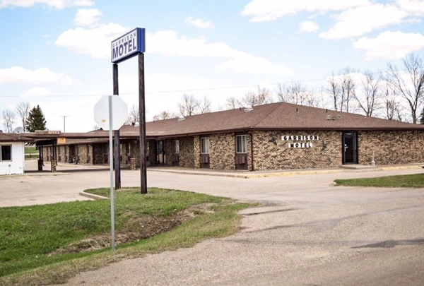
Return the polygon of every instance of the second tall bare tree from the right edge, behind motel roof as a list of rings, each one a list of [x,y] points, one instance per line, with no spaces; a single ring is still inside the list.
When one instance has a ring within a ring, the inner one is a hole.
[[[372,117],[375,111],[381,108],[379,100],[382,97],[382,73],[372,73],[365,71],[364,78],[361,81],[362,94],[354,93],[355,100],[358,102],[359,108],[367,117]]]

